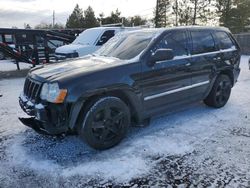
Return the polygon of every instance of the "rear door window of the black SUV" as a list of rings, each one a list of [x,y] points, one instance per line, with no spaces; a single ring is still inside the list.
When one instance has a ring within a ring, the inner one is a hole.
[[[215,42],[210,32],[191,31],[193,49],[192,55],[216,51]]]

